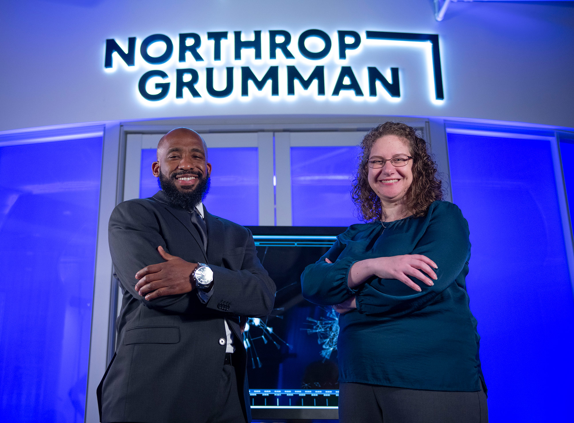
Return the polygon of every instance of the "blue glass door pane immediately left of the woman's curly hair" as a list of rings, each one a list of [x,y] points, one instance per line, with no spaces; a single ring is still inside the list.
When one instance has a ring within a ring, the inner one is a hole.
[[[351,181],[359,147],[291,147],[293,226],[358,223]]]

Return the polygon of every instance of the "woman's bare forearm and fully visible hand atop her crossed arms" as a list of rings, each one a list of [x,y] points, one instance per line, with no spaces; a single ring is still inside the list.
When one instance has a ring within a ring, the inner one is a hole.
[[[431,267],[439,268],[435,262],[420,254],[366,259],[353,264],[347,283],[350,288],[354,288],[371,276],[377,276],[381,279],[398,279],[406,286],[420,292],[421,287],[410,280],[408,276],[413,276],[428,286],[433,286],[435,283],[428,276],[435,280],[437,276]],[[422,274],[421,270],[428,276]]]

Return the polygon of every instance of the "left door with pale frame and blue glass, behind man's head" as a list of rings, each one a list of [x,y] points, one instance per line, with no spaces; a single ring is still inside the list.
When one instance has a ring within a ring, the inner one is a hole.
[[[126,142],[123,200],[152,197],[152,175],[163,133],[130,133]],[[273,225],[273,133],[203,133],[211,163],[205,207],[240,225]]]

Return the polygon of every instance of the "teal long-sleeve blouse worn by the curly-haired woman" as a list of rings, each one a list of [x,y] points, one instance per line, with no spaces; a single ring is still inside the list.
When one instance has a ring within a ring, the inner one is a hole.
[[[334,305],[356,296],[356,310],[339,316],[339,382],[434,391],[479,391],[484,383],[480,337],[468,307],[468,224],[460,209],[435,201],[424,217],[351,225],[301,275],[303,296]],[[434,286],[375,276],[351,289],[353,263],[422,254],[437,266]],[[327,257],[332,264],[325,262]]]

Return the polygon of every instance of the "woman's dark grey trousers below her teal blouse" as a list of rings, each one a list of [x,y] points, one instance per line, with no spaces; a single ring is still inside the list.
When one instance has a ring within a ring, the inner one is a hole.
[[[340,423],[488,423],[486,394],[339,384]]]

